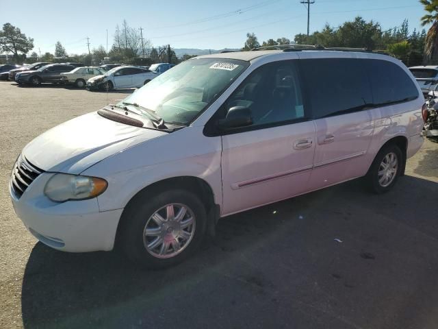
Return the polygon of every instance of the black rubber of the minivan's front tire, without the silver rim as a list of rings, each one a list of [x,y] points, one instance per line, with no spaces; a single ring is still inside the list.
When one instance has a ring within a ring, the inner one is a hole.
[[[146,249],[144,230],[146,223],[160,208],[168,204],[183,204],[194,215],[194,235],[179,254],[170,258],[158,258]],[[185,190],[168,190],[140,193],[125,208],[120,219],[118,243],[136,265],[149,269],[163,269],[181,263],[200,245],[207,228],[207,212],[201,200]]]

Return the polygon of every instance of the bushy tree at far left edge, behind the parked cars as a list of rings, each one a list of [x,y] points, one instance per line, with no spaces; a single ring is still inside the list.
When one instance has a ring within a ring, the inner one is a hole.
[[[25,55],[34,48],[34,39],[27,38],[18,27],[10,23],[3,24],[0,30],[0,50],[5,53],[12,53],[14,59],[18,61],[19,53]]]

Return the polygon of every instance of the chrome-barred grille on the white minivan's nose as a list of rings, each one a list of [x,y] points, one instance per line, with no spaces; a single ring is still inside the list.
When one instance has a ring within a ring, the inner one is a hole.
[[[18,199],[26,188],[44,171],[31,164],[24,156],[19,156],[11,175],[11,187]]]

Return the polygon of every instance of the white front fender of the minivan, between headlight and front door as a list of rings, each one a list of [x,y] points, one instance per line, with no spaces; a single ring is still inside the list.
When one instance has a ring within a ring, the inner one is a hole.
[[[114,154],[81,174],[107,180],[107,191],[98,197],[101,211],[125,208],[143,188],[181,176],[207,182],[214,202],[222,205],[220,153],[220,137],[203,136],[203,127],[185,127]]]

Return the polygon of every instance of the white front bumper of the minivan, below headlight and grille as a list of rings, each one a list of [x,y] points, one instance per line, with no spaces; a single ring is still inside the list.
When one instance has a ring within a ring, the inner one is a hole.
[[[10,186],[16,215],[42,243],[64,252],[109,251],[123,209],[100,212],[97,199],[52,202],[43,191],[54,175],[42,173],[21,197]]]

